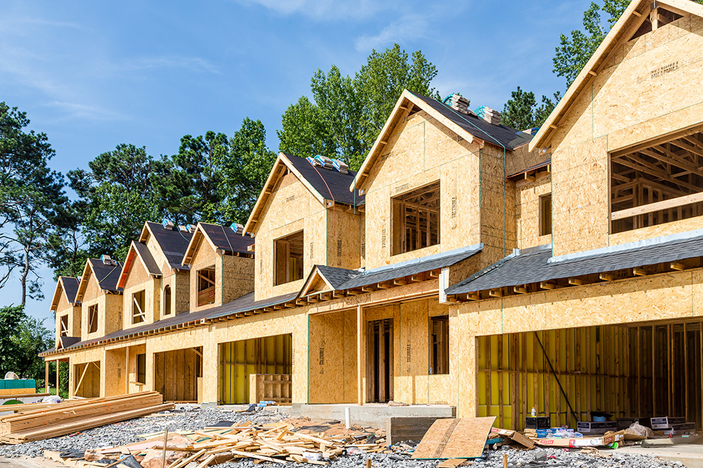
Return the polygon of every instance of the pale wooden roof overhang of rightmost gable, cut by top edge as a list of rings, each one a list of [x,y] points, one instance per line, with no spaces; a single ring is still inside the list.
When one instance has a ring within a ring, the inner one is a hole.
[[[663,6],[665,9],[673,11],[673,13],[690,13],[692,15],[703,17],[703,5],[695,3],[691,0],[660,0],[655,2],[657,6]],[[628,41],[633,34],[644,24],[652,11],[652,2],[650,0],[634,0],[625,9],[620,19],[613,25],[610,32],[600,43],[600,46],[595,50],[591,60],[583,67],[583,70],[574,79],[574,82],[565,93],[564,97],[559,101],[552,113],[547,117],[544,124],[541,126],[537,134],[529,143],[529,150],[534,150],[537,147],[546,147],[549,143],[549,137],[554,135],[554,131],[558,128],[560,120],[569,112],[572,104],[581,92],[591,83],[591,80],[598,76],[600,70],[605,67],[607,57],[610,52],[617,46]]]

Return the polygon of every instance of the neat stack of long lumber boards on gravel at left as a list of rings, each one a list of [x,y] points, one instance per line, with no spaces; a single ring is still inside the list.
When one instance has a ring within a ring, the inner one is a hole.
[[[0,442],[41,441],[172,408],[172,403],[163,404],[156,391],[42,405],[0,417]]]

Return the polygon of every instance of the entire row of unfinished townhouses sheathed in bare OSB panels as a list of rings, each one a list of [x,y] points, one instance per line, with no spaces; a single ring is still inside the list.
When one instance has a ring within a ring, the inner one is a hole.
[[[703,6],[634,0],[534,135],[405,91],[359,172],[281,153],[246,226],[60,278],[41,356],[84,397],[700,429],[701,76]]]

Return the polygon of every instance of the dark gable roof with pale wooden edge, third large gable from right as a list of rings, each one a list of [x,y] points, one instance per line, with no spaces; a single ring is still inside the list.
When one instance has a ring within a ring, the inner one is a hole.
[[[279,152],[276,162],[273,163],[269,173],[269,178],[264,183],[262,193],[259,194],[257,203],[254,204],[254,209],[252,209],[252,214],[247,220],[247,225],[244,228],[245,233],[256,232],[259,216],[264,207],[266,207],[266,202],[269,200],[274,188],[276,188],[276,183],[288,172],[295,174],[298,180],[310,190],[310,193],[321,204],[325,204],[327,201],[348,204],[352,207],[359,207],[364,204],[364,197],[359,193],[359,190],[352,191],[349,188],[349,184],[354,181],[356,172],[348,171],[348,174],[342,174],[337,170],[315,167],[304,157]]]

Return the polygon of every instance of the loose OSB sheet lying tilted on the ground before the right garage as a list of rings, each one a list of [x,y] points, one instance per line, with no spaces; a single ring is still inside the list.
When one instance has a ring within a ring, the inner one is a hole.
[[[437,420],[427,431],[413,458],[478,458],[495,416]]]

